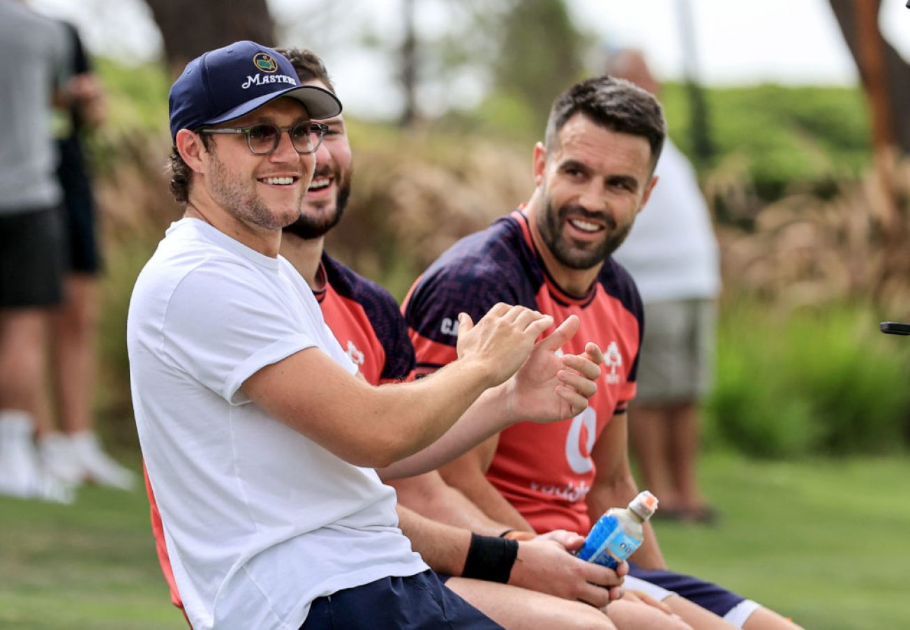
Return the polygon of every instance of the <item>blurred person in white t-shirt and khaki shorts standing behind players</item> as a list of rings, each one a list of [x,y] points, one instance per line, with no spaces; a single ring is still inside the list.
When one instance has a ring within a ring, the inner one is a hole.
[[[659,96],[638,50],[613,54],[606,70]],[[632,274],[644,305],[629,435],[642,481],[661,500],[655,515],[708,523],[716,513],[698,484],[698,407],[713,375],[717,240],[695,169],[669,137],[654,173],[661,183],[613,256]]]

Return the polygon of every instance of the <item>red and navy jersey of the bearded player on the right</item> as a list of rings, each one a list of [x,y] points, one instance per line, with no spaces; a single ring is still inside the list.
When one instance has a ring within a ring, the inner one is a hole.
[[[538,532],[585,533],[591,523],[584,498],[596,473],[591,449],[635,395],[643,329],[638,290],[613,259],[605,261],[587,294],[561,290],[541,263],[528,219],[516,210],[455,243],[411,288],[404,312],[417,372],[455,360],[460,311],[477,321],[497,302],[552,315],[554,326],[574,313],[581,326],[561,350],[581,353],[594,341],[603,351],[602,374],[588,409],[571,420],[512,425],[501,432],[487,473]]]

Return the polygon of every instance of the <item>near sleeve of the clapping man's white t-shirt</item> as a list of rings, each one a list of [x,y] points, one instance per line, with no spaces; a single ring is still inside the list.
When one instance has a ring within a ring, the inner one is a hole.
[[[240,387],[250,376],[319,339],[257,280],[238,266],[203,264],[181,279],[164,319],[167,360],[233,404],[249,400]]]

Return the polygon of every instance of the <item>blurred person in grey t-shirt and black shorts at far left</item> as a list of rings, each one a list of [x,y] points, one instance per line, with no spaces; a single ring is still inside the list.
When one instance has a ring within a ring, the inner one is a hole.
[[[68,502],[46,473],[35,430],[50,426],[45,342],[62,300],[64,231],[51,137],[71,70],[63,26],[22,3],[0,2],[0,493]]]

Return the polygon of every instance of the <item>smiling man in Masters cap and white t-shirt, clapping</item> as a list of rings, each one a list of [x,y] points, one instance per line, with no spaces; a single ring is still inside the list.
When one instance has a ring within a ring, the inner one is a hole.
[[[370,386],[278,257],[325,131],[312,119],[337,116],[338,99],[238,42],[191,61],[169,105],[186,213],[136,279],[127,345],[189,622],[498,627],[411,551],[373,468],[420,473],[521,418],[577,414],[600,351],[557,357],[577,321],[535,344],[551,318],[499,304],[460,317],[459,361],[437,376]]]

